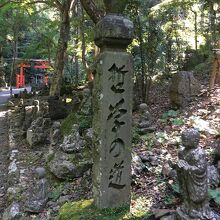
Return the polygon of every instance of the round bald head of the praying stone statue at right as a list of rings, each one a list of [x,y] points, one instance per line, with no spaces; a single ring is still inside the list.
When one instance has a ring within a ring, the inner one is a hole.
[[[196,148],[199,144],[200,134],[194,128],[189,128],[182,133],[182,143],[187,149]]]

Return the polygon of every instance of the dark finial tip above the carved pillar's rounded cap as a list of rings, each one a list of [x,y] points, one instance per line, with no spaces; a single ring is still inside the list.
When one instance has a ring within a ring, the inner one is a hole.
[[[122,14],[126,5],[127,0],[103,0],[107,14]]]

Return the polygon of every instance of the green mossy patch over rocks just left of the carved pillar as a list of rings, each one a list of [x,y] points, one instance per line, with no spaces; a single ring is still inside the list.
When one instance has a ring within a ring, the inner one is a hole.
[[[92,127],[92,116],[87,116],[76,112],[69,114],[61,124],[61,133],[63,136],[70,134],[73,124],[78,124],[79,131],[83,132],[84,130]]]

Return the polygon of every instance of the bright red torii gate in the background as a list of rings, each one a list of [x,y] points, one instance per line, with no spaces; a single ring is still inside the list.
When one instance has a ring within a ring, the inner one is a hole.
[[[33,62],[35,65],[29,64]],[[29,60],[28,63],[21,63],[18,65],[20,68],[20,73],[16,74],[16,88],[21,88],[25,86],[25,68],[35,68],[35,69],[48,69],[50,68],[49,62],[46,60]],[[43,83],[48,85],[48,76],[44,76]]]

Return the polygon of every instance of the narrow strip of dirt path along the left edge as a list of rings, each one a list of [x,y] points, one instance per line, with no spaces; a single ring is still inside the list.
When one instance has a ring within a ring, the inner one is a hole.
[[[6,205],[8,126],[5,107],[0,106],[0,216]]]

